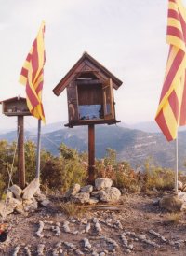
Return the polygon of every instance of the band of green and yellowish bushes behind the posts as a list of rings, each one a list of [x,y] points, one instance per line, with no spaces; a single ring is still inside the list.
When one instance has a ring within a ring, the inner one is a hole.
[[[11,183],[18,184],[18,159],[14,159],[16,143],[8,144],[0,141],[0,196],[7,190],[9,173],[12,169]],[[81,186],[87,180],[87,154],[79,154],[75,149],[70,149],[61,144],[60,155],[55,157],[45,149],[41,150],[41,184],[49,191],[59,190],[66,192],[74,183]],[[32,141],[25,143],[25,174],[26,181],[30,182],[35,177],[36,146]],[[126,189],[128,192],[148,192],[157,190],[172,190],[175,182],[174,171],[156,167],[151,159],[144,163],[143,172],[136,172],[127,162],[116,161],[116,151],[106,150],[105,158],[96,160],[96,178],[111,178],[113,186]],[[185,176],[179,174],[180,180]]]

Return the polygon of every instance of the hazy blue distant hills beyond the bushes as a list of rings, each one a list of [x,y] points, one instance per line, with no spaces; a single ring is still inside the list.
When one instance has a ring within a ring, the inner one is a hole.
[[[96,157],[103,158],[106,149],[117,151],[117,159],[128,161],[134,168],[141,166],[151,157],[154,163],[162,167],[174,168],[175,142],[166,142],[162,133],[146,133],[137,129],[128,129],[117,125],[96,126]],[[25,133],[26,139],[36,143],[33,132]],[[0,135],[0,140],[16,139],[16,131]],[[42,148],[58,154],[60,143],[77,149],[79,152],[87,151],[87,127],[62,128],[51,133],[42,134]],[[179,132],[179,169],[185,170],[186,162],[186,132]]]

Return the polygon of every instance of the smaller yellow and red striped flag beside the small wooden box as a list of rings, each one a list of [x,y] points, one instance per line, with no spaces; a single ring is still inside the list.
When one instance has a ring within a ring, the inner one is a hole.
[[[46,62],[44,45],[45,21],[42,21],[38,35],[20,72],[20,83],[26,86],[27,106],[31,114],[45,122],[42,104],[44,64]]]

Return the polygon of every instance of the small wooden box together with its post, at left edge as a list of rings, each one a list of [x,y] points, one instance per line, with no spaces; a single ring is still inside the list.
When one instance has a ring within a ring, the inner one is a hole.
[[[18,169],[19,185],[25,187],[25,160],[24,160],[24,116],[31,113],[27,107],[26,99],[20,96],[1,101],[2,112],[8,117],[18,116]]]

